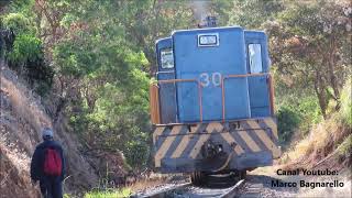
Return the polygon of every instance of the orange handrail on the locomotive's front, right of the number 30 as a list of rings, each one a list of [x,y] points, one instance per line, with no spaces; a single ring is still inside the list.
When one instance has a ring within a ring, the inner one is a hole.
[[[272,77],[270,73],[258,73],[258,74],[243,74],[243,75],[228,75],[221,78],[221,98],[222,98],[222,122],[226,121],[226,108],[224,108],[224,80],[227,78],[246,78],[246,77],[254,77],[254,76],[268,76],[270,77],[270,98],[271,98],[271,111],[274,114],[274,88],[272,86]]]

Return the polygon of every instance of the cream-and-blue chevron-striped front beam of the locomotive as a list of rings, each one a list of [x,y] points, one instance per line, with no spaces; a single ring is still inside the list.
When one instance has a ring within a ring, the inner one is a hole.
[[[273,158],[280,155],[274,118],[237,121],[235,129],[231,128],[231,122],[157,125],[153,133],[155,167],[161,167],[163,158],[198,158],[201,146],[212,134],[235,145],[232,146],[234,157],[262,151],[271,151]]]

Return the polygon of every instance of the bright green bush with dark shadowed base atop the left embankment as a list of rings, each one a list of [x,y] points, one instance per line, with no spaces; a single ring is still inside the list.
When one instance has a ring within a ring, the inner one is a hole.
[[[7,35],[3,56],[9,66],[25,76],[41,96],[47,95],[53,85],[54,69],[45,62],[43,43],[36,36],[33,22],[23,13],[9,13],[0,24]]]

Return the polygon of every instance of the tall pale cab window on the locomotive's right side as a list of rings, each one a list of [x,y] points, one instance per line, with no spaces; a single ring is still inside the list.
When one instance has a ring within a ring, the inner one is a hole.
[[[262,73],[262,50],[261,44],[249,44],[250,72]]]

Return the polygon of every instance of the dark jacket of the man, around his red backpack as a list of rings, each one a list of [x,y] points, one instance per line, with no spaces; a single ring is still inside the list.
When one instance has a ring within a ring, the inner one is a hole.
[[[63,163],[63,169],[62,169],[62,175],[59,179],[64,180],[66,163],[65,163],[63,147],[59,145],[58,142],[50,141],[50,140],[42,142],[35,147],[35,151],[32,157],[32,163],[31,163],[31,178],[32,180],[35,180],[35,182],[45,179],[46,176],[44,175],[44,156],[45,156],[45,150],[47,147],[53,147],[59,153],[62,157],[62,163]]]

